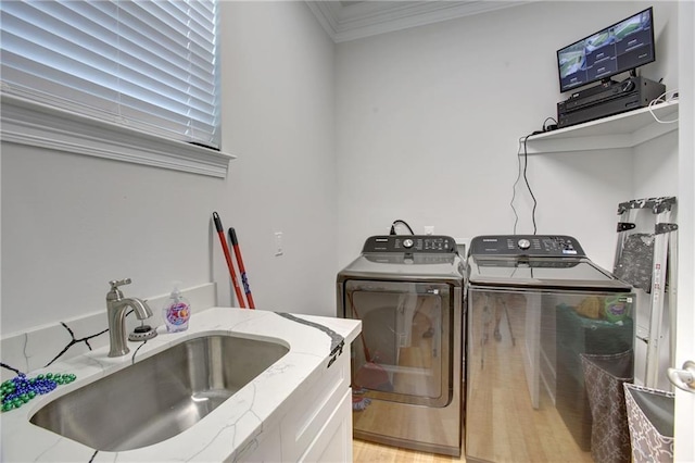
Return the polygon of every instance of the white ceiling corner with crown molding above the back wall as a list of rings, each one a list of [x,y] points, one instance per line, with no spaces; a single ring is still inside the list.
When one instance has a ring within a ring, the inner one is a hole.
[[[311,1],[306,4],[334,42],[515,7],[528,1]]]

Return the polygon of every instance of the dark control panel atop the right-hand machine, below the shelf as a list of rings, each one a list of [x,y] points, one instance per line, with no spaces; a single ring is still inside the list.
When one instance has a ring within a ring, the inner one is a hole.
[[[566,235],[491,235],[470,241],[473,255],[528,255],[539,258],[584,258],[577,239]]]

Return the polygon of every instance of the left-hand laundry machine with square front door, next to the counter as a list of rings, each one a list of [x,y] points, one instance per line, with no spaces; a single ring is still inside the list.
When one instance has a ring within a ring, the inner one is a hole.
[[[462,453],[465,261],[447,236],[372,236],[338,274],[352,343],[353,435]]]

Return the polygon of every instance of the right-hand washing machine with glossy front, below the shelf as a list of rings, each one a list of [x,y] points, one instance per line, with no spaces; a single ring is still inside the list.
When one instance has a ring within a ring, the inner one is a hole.
[[[591,462],[582,358],[633,354],[632,287],[573,237],[506,235],[471,240],[467,290],[466,461]]]

